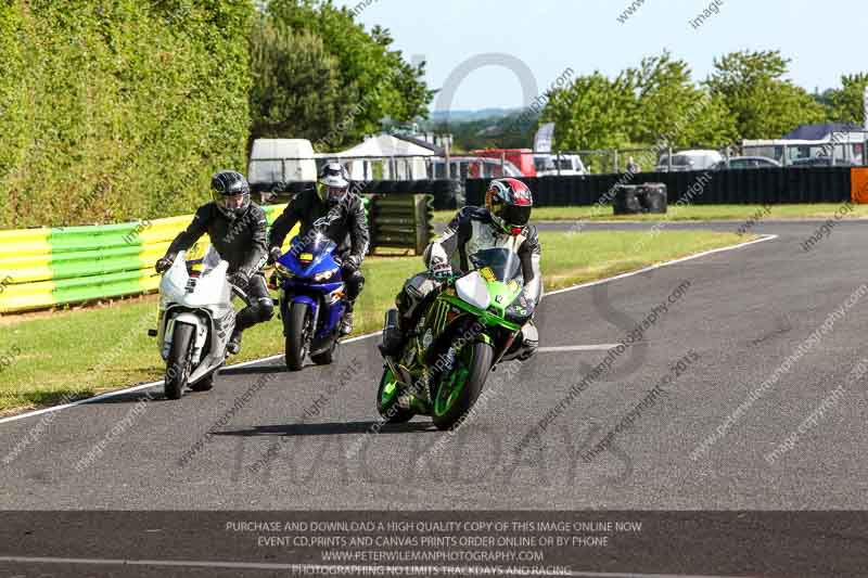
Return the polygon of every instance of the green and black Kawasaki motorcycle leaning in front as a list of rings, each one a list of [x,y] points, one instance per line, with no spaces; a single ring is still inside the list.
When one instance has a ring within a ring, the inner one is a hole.
[[[519,303],[524,286],[518,255],[507,248],[470,257],[474,271],[442,279],[441,291],[419,305],[423,313],[400,355],[385,357],[376,409],[386,423],[431,415],[449,429],[470,412],[488,372],[503,358],[531,318]],[[386,313],[384,339],[397,311]]]

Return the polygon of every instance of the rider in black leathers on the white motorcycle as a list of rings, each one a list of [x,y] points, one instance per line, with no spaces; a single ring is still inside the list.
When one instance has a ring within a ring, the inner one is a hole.
[[[181,251],[189,251],[208,233],[220,258],[229,262],[229,282],[247,294],[247,305],[238,313],[227,350],[238,354],[244,330],[268,321],[275,312],[261,268],[267,259],[265,211],[251,202],[250,185],[240,172],[225,170],[212,178],[214,201],[196,210],[193,221],[175,237],[156,271],[171,267]]]

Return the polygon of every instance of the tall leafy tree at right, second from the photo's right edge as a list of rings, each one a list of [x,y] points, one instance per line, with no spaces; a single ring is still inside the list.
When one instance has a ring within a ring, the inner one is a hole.
[[[799,125],[826,119],[822,105],[784,78],[789,64],[779,51],[733,52],[715,59],[715,72],[706,84],[712,95],[726,103],[740,138],[778,138]]]

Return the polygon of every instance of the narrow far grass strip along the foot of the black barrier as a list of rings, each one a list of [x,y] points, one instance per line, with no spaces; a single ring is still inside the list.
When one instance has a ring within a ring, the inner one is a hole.
[[[666,215],[624,215],[615,217],[611,207],[537,207],[535,221],[745,221],[762,215],[764,219],[829,219],[841,209],[838,203],[817,203],[808,205],[773,205],[766,214],[762,205],[689,205],[669,206]],[[868,217],[868,205],[853,205],[843,217],[846,219]],[[455,210],[437,210],[434,221],[449,222]]]

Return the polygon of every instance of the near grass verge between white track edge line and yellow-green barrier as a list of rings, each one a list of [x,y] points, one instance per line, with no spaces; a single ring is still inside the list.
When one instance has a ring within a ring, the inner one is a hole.
[[[710,231],[590,232],[540,235],[548,291],[601,279],[698,252],[743,242]],[[637,245],[642,251],[637,251]],[[419,257],[372,257],[357,304],[357,333],[381,329],[403,282],[422,269]],[[146,330],[156,321],[156,298],[106,307],[55,311],[0,320],[0,412],[89,397],[113,388],[156,381],[164,368]],[[283,352],[277,318],[244,334],[233,362]]]

